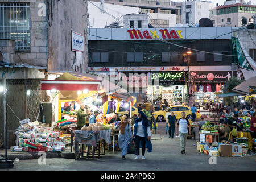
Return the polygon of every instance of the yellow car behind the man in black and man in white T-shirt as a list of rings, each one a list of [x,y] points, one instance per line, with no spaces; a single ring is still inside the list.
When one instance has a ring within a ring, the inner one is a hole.
[[[156,121],[159,121],[159,122],[166,121],[166,119],[167,119],[167,118],[165,118],[166,113],[169,110],[171,110],[171,111],[174,112],[177,119],[181,118],[181,113],[182,112],[185,112],[187,119],[191,120],[192,119],[192,113],[191,113],[190,109],[191,109],[191,107],[188,107],[188,106],[175,105],[175,106],[168,107],[166,110],[155,111],[154,113],[152,113],[152,115],[154,116]],[[197,110],[196,118],[201,118],[201,113],[200,113],[199,110]]]

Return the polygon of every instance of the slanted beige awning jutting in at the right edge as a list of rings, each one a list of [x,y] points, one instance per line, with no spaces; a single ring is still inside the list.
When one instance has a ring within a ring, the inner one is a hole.
[[[250,95],[250,88],[256,87],[256,76],[250,78],[249,80],[243,81],[241,84],[237,85],[232,90],[234,92]]]

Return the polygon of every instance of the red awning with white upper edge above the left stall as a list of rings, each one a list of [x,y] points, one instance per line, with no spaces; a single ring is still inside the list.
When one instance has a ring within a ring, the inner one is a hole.
[[[42,80],[42,90],[60,90],[60,91],[77,91],[77,90],[98,90],[101,81],[78,81],[78,80]]]

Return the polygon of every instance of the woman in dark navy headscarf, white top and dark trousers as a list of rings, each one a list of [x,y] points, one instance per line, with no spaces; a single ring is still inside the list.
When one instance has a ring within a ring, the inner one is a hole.
[[[150,141],[151,131],[150,123],[148,122],[147,116],[142,112],[138,112],[138,118],[135,120],[133,137],[135,137],[136,143],[136,158],[139,159],[139,148],[142,148],[142,159],[145,159],[145,151],[152,152],[152,143]]]

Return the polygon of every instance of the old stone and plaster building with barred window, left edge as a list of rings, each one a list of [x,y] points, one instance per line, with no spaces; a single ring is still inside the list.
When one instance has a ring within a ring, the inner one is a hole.
[[[1,91],[7,89],[5,96],[0,94],[0,145],[5,113],[9,130],[18,128],[22,119],[40,121],[39,103],[46,96],[40,85],[42,79],[48,78],[47,72],[87,70],[86,3],[83,0],[0,2],[0,87]],[[80,34],[81,49],[74,48],[78,44],[73,44],[76,39],[72,39],[75,34],[72,31]]]

